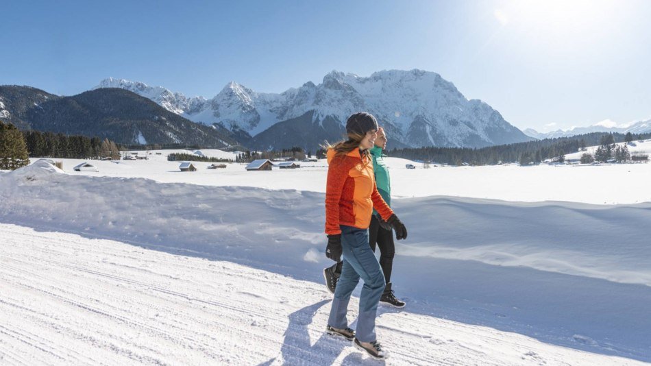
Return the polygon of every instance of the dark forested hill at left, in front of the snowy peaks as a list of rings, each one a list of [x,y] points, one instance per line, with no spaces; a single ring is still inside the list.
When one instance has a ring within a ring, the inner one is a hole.
[[[162,108],[129,90],[101,88],[58,97],[29,86],[0,86],[0,117],[19,128],[110,138],[122,144],[235,145],[229,132]]]

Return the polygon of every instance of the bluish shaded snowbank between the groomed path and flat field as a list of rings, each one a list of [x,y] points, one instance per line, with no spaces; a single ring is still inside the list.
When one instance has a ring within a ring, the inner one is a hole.
[[[0,223],[223,260],[317,286],[332,263],[323,254],[323,200],[291,189],[79,176],[44,162],[0,173]],[[434,196],[397,199],[394,208],[410,230],[396,243],[392,277],[408,313],[651,361],[651,203]]]

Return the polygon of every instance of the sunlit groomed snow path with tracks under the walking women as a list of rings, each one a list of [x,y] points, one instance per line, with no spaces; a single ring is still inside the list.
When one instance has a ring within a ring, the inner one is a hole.
[[[3,365],[378,364],[323,334],[331,295],[320,284],[19,225],[0,223],[0,237]],[[643,364],[390,308],[379,313],[391,365]]]

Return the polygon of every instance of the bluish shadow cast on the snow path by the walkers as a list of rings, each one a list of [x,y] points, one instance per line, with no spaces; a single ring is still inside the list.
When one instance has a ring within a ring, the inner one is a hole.
[[[326,324],[323,324],[321,337],[313,345],[310,345],[308,326],[312,324],[312,319],[319,308],[328,302],[330,300],[321,300],[291,313],[289,325],[284,333],[285,339],[280,348],[280,359],[278,357],[271,358],[258,366],[332,365],[342,350],[352,347],[351,341],[327,334]],[[364,357],[360,351],[352,352],[341,361],[341,365],[384,365],[384,361]]]

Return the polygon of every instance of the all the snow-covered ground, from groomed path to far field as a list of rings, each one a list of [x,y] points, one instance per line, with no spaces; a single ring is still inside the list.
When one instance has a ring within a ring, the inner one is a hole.
[[[0,173],[0,363],[371,363],[323,334],[325,163],[182,173],[160,152]],[[651,361],[651,164],[406,162],[387,363]]]

